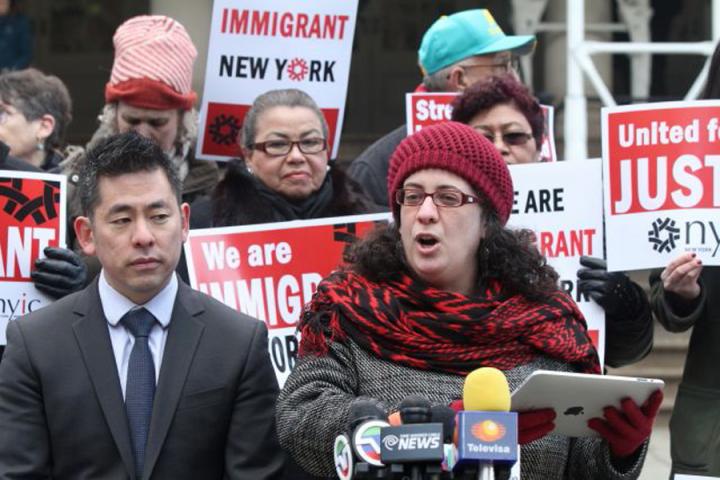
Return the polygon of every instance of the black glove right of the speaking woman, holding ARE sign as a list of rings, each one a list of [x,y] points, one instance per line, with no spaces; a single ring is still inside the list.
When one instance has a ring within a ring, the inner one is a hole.
[[[595,300],[611,316],[640,315],[647,301],[642,290],[622,272],[608,272],[602,258],[580,257],[578,290]],[[645,301],[644,301],[645,300]]]

